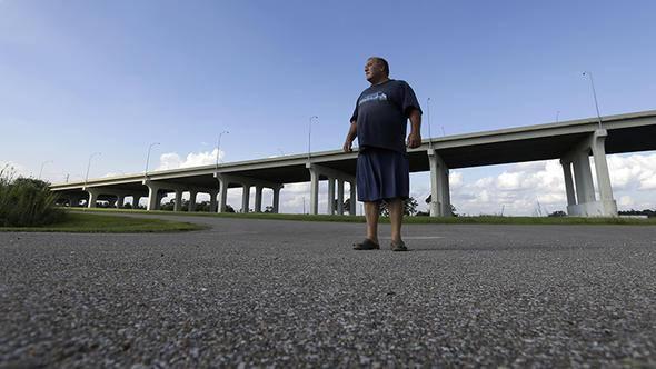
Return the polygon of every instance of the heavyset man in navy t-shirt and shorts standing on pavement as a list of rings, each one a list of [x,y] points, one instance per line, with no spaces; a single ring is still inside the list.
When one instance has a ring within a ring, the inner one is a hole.
[[[410,191],[406,146],[414,149],[421,144],[421,109],[408,83],[389,79],[389,64],[385,59],[369,58],[365,76],[371,86],[358,98],[344,143],[344,151],[350,152],[352,141],[358,138],[356,182],[358,200],[365,202],[367,218],[367,238],[354,249],[380,248],[378,215],[380,201],[386,201],[391,222],[390,247],[394,251],[407,251],[401,240],[404,200]],[[406,139],[408,119],[410,134]]]

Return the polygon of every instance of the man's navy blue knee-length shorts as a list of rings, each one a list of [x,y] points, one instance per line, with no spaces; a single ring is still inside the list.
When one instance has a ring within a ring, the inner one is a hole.
[[[360,148],[356,182],[359,201],[407,199],[410,193],[408,157],[394,150]]]

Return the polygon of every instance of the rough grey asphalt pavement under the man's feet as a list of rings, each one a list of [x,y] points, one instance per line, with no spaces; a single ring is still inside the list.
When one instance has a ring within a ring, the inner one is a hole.
[[[655,227],[179,219],[0,232],[0,367],[656,366]]]

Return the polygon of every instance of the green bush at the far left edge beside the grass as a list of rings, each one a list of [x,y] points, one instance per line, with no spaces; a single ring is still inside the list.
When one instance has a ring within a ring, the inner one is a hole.
[[[61,221],[63,210],[54,207],[57,196],[49,183],[19,177],[0,169],[0,227],[37,227]]]

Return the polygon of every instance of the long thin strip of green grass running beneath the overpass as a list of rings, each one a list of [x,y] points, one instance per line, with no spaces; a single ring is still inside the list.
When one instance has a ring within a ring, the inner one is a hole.
[[[112,212],[112,213],[151,213],[158,216],[178,216],[178,217],[220,217],[237,219],[278,219],[278,220],[300,220],[300,221],[337,221],[337,222],[365,222],[362,216],[327,216],[327,215],[286,215],[286,213],[235,213],[235,212],[187,212],[187,211],[165,211],[155,210],[132,210],[132,209],[86,209],[76,208],[76,211],[89,212]],[[388,218],[381,217],[381,222],[389,222]],[[623,226],[656,226],[656,218],[636,219],[636,218],[579,218],[579,217],[405,217],[404,223],[414,225],[623,225]]]

